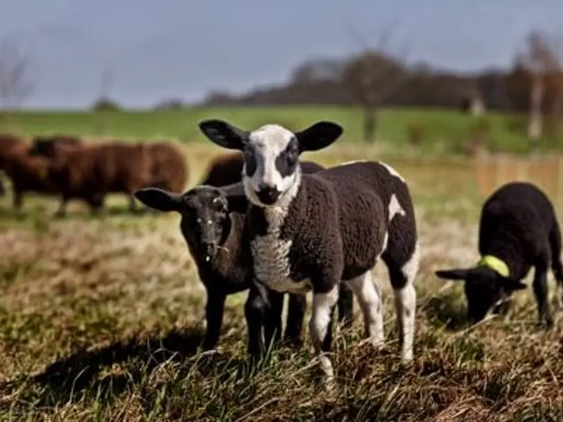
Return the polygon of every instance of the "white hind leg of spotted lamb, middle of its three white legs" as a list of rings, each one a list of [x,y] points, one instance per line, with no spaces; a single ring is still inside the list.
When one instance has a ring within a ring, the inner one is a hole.
[[[383,315],[381,311],[381,290],[374,283],[372,272],[368,271],[355,279],[347,281],[356,294],[362,309],[365,336],[376,346],[383,346]]]

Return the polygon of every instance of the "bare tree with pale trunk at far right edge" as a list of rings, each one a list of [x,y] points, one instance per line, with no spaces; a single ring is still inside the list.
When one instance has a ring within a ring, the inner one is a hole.
[[[540,31],[532,31],[526,39],[526,48],[518,61],[530,73],[530,116],[528,139],[537,147],[543,133],[542,104],[546,94],[547,78],[560,75],[562,71],[562,49],[560,39]],[[553,106],[558,108],[561,96],[555,96]]]

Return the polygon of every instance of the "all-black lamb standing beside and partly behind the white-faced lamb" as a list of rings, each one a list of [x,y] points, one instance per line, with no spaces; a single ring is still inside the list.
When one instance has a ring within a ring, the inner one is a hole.
[[[319,168],[322,169],[317,165],[310,170]],[[141,188],[135,192],[135,196],[154,209],[177,211],[182,215],[182,236],[207,290],[207,331],[203,348],[213,349],[220,334],[227,295],[248,290],[253,281],[249,233],[248,227],[245,227],[248,202],[242,184],[232,184],[222,190],[212,186],[196,186],[184,194],[160,188]],[[229,204],[241,209],[241,212],[231,211]],[[285,340],[299,344],[306,299],[302,294],[288,296]],[[261,285],[252,289],[245,314],[249,348],[254,355],[264,350],[263,340],[270,344],[272,340],[281,338],[283,300],[284,294]],[[343,315],[352,314],[352,300],[342,307]],[[262,338],[262,328],[265,339]]]

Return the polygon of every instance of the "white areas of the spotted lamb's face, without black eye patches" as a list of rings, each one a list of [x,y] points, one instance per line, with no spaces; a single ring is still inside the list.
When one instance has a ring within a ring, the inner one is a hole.
[[[263,125],[248,135],[248,141],[256,159],[256,171],[252,176],[246,174],[246,164],[243,165],[243,184],[248,200],[257,206],[269,207],[262,204],[256,195],[261,185],[266,184],[277,188],[280,192],[288,191],[301,173],[301,167],[289,176],[282,176],[276,168],[276,158],[283,152],[295,134],[280,125]],[[283,196],[283,194],[282,194]],[[280,198],[281,199],[281,198]],[[270,206],[277,206],[273,204]]]

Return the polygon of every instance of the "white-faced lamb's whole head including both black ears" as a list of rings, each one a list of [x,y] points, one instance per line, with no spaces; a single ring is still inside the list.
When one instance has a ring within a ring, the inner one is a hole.
[[[244,154],[243,185],[248,200],[257,206],[277,206],[291,200],[301,179],[302,152],[325,148],[343,132],[336,123],[321,121],[300,132],[280,125],[246,131],[218,120],[200,122],[207,138]]]

